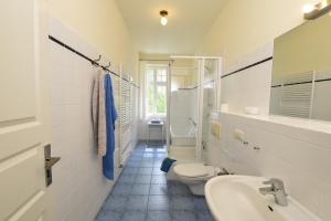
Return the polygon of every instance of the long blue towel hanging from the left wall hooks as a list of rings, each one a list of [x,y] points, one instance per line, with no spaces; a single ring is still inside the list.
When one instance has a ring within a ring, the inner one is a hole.
[[[107,152],[103,158],[104,176],[114,180],[114,150],[115,150],[115,120],[117,112],[113,96],[113,85],[109,74],[105,74],[105,105],[106,105],[106,131],[107,131]]]

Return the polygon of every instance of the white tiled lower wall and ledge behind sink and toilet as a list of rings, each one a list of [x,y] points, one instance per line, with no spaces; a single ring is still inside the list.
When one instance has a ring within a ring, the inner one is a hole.
[[[288,193],[322,220],[331,220],[331,125],[329,133],[298,127],[295,119],[268,117],[255,119],[235,114],[220,114],[222,138],[210,136],[209,160],[239,175],[280,178]],[[245,133],[248,146],[233,136],[235,128]],[[260,150],[254,150],[259,147]]]

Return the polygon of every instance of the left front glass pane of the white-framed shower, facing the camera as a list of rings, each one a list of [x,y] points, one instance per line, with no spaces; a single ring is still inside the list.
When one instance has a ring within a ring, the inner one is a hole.
[[[195,158],[199,61],[175,60],[171,67],[170,154]]]

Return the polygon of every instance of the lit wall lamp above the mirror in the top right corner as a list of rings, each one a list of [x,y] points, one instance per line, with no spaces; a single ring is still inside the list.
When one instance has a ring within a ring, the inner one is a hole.
[[[314,20],[331,11],[331,0],[323,0],[318,4],[306,4],[302,8],[306,20]]]

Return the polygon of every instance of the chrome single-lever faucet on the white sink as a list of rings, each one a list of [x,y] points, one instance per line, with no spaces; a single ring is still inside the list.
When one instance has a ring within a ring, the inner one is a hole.
[[[273,194],[277,204],[286,207],[288,204],[287,193],[285,192],[284,182],[280,179],[271,178],[265,181],[264,185],[271,185],[270,187],[259,188],[259,192],[264,196]]]

